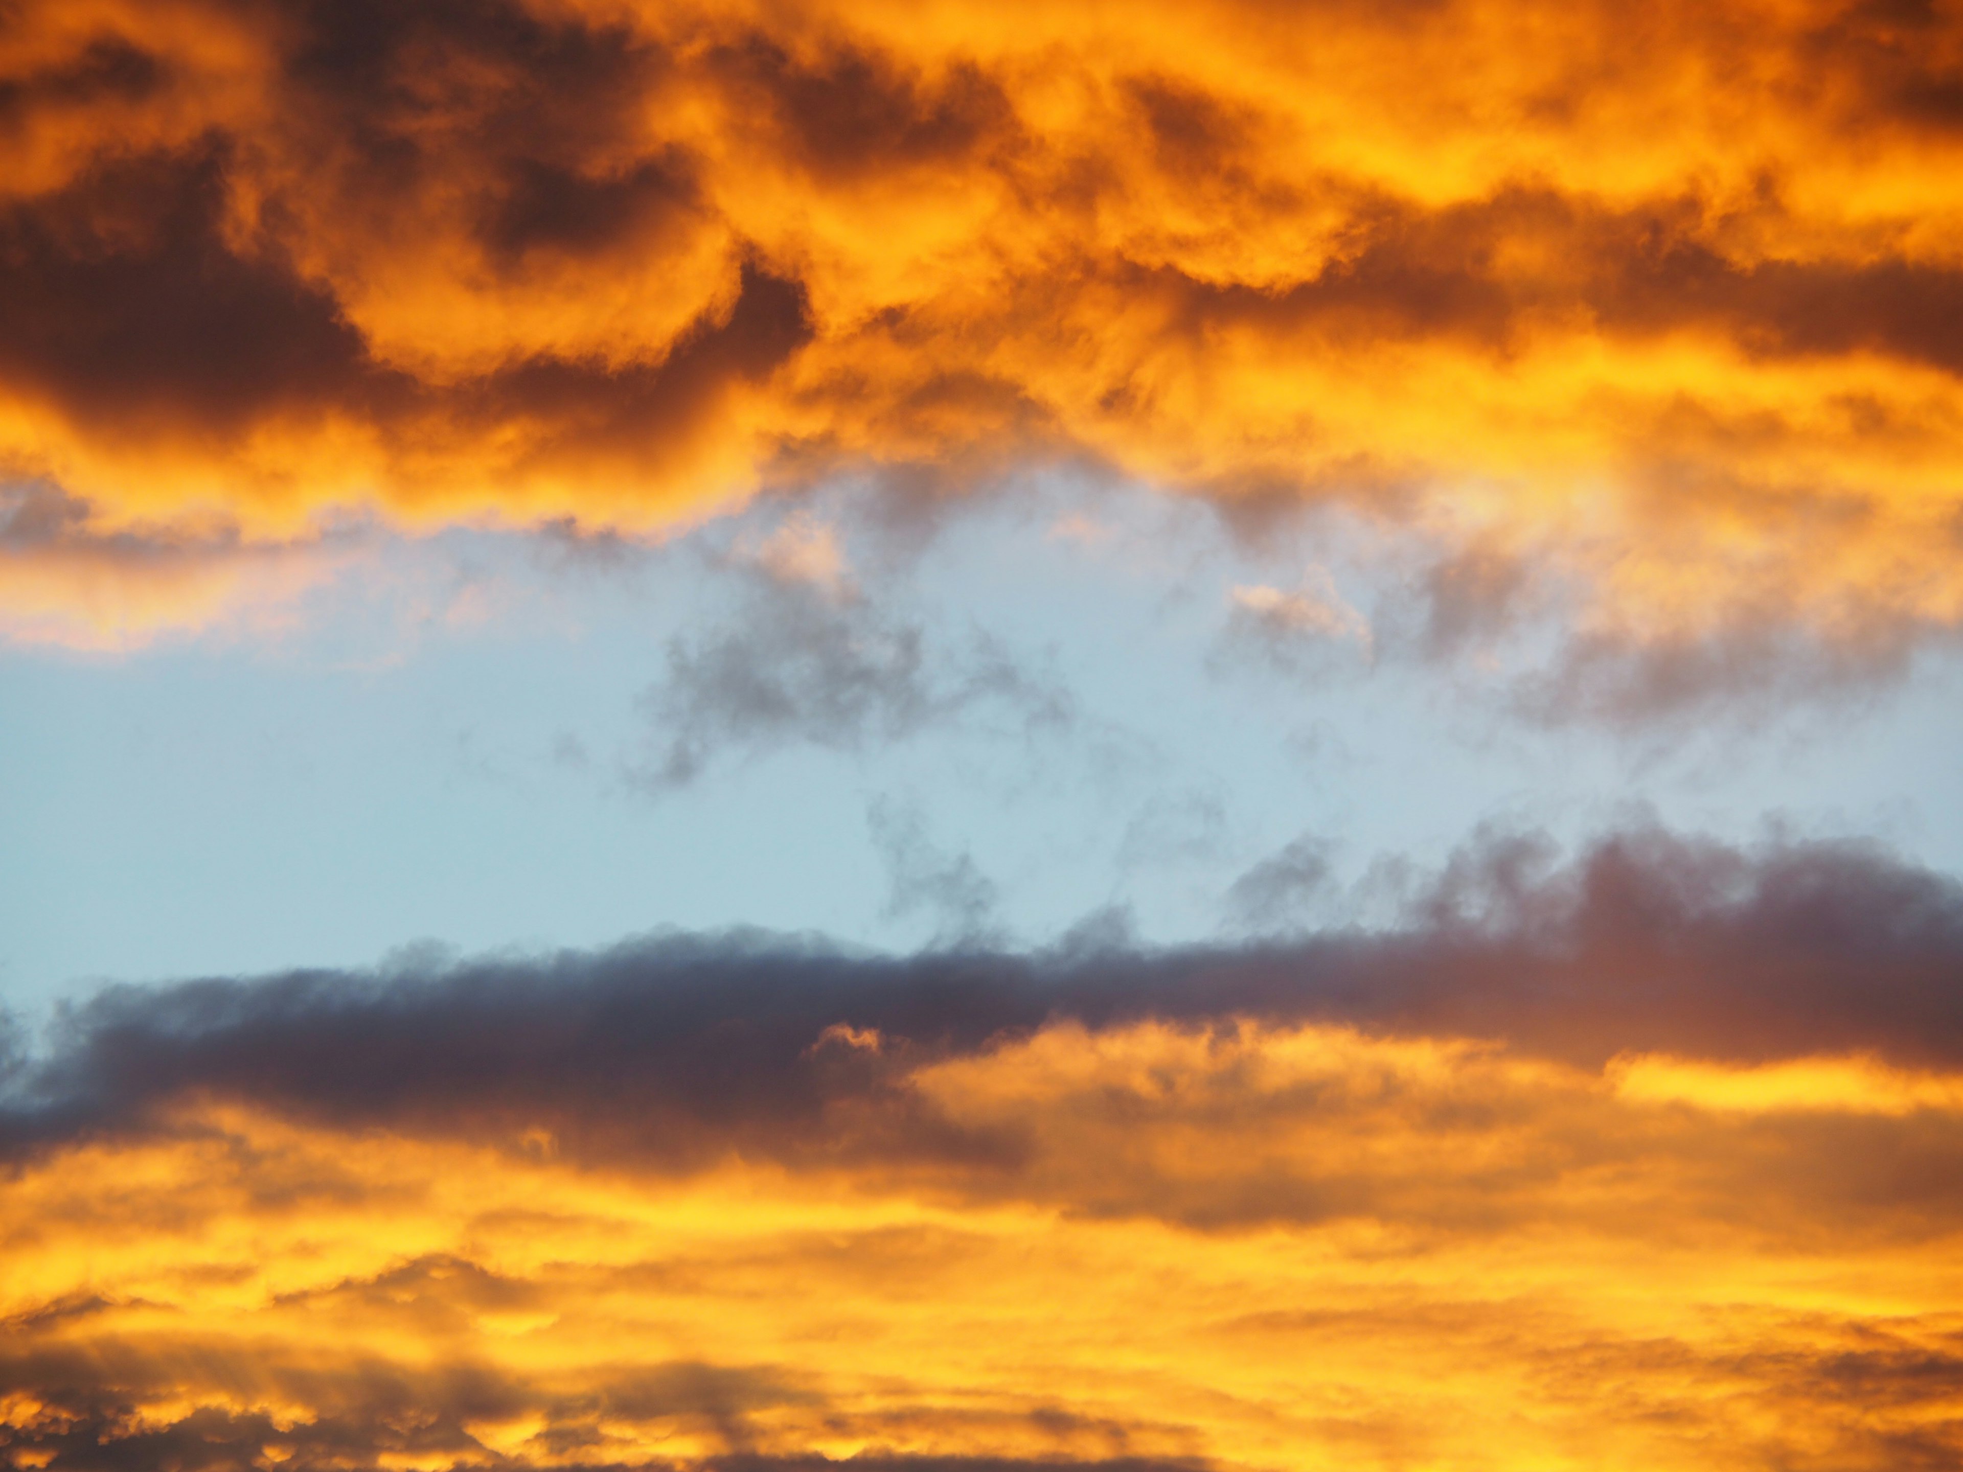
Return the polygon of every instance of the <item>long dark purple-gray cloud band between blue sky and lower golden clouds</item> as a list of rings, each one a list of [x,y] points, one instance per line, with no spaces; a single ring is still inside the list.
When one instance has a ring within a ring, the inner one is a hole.
[[[1290,864],[1258,869],[1252,891]],[[422,972],[112,987],[16,1060],[0,1140],[145,1129],[202,1091],[345,1125],[497,1138],[542,1125],[567,1150],[656,1170],[730,1148],[1011,1166],[1015,1140],[932,1117],[899,1078],[1054,1017],[1229,1015],[1490,1036],[1586,1064],[1873,1050],[1957,1066],[1963,885],[1845,844],[1743,852],[1647,830],[1561,864],[1545,842],[1486,836],[1378,932],[911,958],[667,934]],[[887,1046],[832,1046],[836,1026]]]

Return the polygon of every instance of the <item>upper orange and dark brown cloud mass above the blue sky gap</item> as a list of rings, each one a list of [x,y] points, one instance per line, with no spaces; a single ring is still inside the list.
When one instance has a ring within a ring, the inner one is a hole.
[[[22,0],[0,461],[175,546],[1072,457],[1867,650],[1963,618],[1959,98],[1939,0]]]

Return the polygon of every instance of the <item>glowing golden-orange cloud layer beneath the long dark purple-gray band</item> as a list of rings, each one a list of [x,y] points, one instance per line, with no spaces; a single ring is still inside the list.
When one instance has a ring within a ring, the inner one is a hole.
[[[1671,1068],[1060,1025],[911,1072],[993,1154],[683,1178],[192,1103],[0,1185],[0,1458],[1963,1454],[1955,1217],[1869,1166],[1953,1150],[1963,1078]]]

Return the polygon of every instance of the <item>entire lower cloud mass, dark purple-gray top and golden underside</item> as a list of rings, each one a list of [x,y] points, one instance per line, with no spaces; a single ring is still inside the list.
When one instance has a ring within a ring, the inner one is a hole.
[[[1943,1468],[1963,891],[1468,852],[1266,950],[667,938],[16,1052],[16,1468]]]

